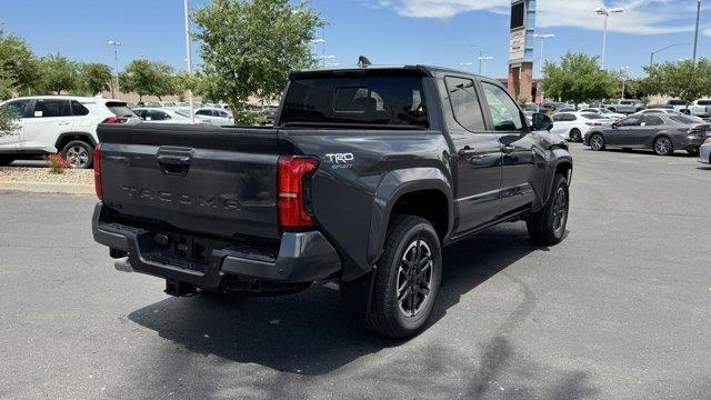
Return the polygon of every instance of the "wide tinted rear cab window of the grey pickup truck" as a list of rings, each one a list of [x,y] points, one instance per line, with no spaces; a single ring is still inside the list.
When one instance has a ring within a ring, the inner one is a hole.
[[[311,77],[291,82],[281,123],[429,128],[422,77]]]

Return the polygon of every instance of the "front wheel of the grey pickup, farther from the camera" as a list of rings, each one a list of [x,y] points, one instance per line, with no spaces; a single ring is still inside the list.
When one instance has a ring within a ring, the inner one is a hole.
[[[531,240],[541,246],[560,243],[565,234],[569,206],[568,179],[557,173],[553,178],[553,190],[545,206],[525,221]]]

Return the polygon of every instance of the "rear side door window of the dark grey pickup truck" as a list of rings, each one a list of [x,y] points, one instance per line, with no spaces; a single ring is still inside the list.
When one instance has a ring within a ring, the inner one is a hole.
[[[452,113],[459,124],[472,132],[487,130],[481,103],[471,79],[447,77],[444,79]]]

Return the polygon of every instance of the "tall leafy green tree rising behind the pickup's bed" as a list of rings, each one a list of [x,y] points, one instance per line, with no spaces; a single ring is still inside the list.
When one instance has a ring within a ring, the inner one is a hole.
[[[279,97],[293,69],[313,67],[309,41],[323,26],[306,2],[289,0],[214,0],[193,14],[208,98],[227,101],[240,123],[252,122],[250,96]]]

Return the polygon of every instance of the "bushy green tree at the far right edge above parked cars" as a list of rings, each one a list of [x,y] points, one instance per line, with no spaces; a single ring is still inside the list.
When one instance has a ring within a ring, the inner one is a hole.
[[[711,61],[700,59],[664,62],[644,67],[647,78],[640,84],[648,94],[665,94],[687,102],[711,96]]]

